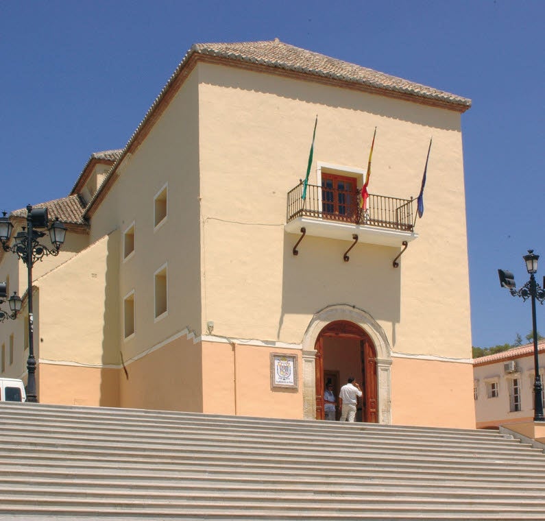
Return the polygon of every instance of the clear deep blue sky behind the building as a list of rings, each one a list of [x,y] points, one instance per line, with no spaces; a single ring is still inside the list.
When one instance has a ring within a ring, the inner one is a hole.
[[[496,269],[526,282],[533,248],[545,274],[544,19],[537,0],[3,0],[0,209],[62,197],[92,152],[122,148],[193,43],[278,37],[472,99],[472,337],[512,342],[531,329],[530,304],[500,289]],[[544,321],[538,306],[543,334]]]

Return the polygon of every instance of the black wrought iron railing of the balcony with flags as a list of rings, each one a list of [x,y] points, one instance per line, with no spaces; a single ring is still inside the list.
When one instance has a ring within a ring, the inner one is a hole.
[[[344,191],[308,184],[306,199],[302,199],[303,183],[288,192],[287,222],[298,217],[315,217],[328,221],[342,221],[378,228],[413,232],[413,202],[369,194],[367,208],[360,207],[360,191]]]

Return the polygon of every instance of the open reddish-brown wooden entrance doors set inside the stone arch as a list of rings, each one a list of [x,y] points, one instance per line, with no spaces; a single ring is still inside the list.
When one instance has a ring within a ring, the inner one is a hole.
[[[363,329],[352,322],[337,321],[328,324],[319,334],[316,341],[316,359],[315,359],[315,381],[316,381],[316,419],[324,419],[324,383],[326,372],[335,370],[335,367],[324,368],[324,339],[333,337],[336,339],[356,339],[359,341],[359,354],[361,357],[361,376],[353,374],[356,380],[363,383],[363,396],[361,400],[361,421],[378,422],[378,400],[376,391],[376,351],[370,337]],[[339,345],[339,357],[342,356],[342,342]],[[347,376],[339,384],[346,383]]]

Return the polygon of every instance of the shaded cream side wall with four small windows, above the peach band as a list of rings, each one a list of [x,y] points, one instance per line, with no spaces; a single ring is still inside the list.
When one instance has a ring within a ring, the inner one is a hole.
[[[145,141],[122,162],[117,181],[91,218],[91,240],[119,230],[119,337],[125,361],[169,339],[198,329],[199,155],[197,81],[191,75]],[[154,197],[168,184],[168,215],[154,229]],[[123,232],[134,221],[134,254],[123,260]],[[154,316],[154,272],[167,263],[168,313]],[[123,339],[123,298],[134,290],[136,331]]]

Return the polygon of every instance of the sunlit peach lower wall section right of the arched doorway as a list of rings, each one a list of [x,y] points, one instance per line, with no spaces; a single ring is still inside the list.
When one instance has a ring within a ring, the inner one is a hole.
[[[474,428],[472,365],[394,358],[392,423]]]

